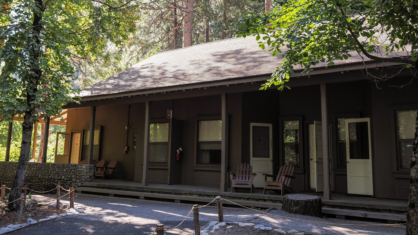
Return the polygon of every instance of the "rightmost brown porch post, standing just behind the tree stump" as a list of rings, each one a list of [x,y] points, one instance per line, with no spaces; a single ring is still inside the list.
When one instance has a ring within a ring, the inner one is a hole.
[[[331,181],[328,158],[328,114],[326,111],[326,87],[321,83],[322,153],[324,159],[324,199],[331,199]]]

